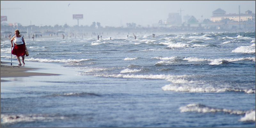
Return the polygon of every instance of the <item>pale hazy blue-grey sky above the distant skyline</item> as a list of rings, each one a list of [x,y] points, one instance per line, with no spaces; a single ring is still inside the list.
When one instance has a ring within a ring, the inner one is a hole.
[[[69,4],[69,5],[68,5]],[[141,26],[152,26],[159,20],[166,21],[169,13],[193,15],[199,21],[210,19],[212,11],[218,8],[229,13],[241,13],[247,10],[255,13],[255,1],[2,1],[1,16],[7,16],[7,22],[32,25],[54,26],[77,25],[73,14],[83,14],[80,25],[92,25],[100,22],[101,26],[124,26],[136,23]],[[21,8],[8,9],[3,8]]]

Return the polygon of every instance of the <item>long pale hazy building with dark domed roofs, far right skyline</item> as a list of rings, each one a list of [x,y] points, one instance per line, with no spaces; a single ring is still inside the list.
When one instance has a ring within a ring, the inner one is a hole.
[[[226,14],[226,11],[221,9],[217,9],[212,12],[211,21],[212,22],[219,22],[224,19],[229,19],[231,21],[238,21],[239,22],[239,14]],[[248,10],[244,13],[240,14],[240,21],[252,21],[255,22],[255,13]]]

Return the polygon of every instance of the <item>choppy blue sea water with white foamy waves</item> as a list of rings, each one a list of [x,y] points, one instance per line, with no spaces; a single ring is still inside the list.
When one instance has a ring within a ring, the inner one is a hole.
[[[102,37],[25,38],[61,75],[1,78],[1,127],[255,127],[255,32]]]

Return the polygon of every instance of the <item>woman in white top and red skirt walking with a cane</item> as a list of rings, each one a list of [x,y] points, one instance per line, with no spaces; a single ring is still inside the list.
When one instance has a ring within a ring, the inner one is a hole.
[[[12,37],[11,39],[11,47],[13,47],[12,45],[12,41],[14,40],[14,47],[12,49],[12,54],[16,55],[17,60],[19,62],[19,66],[21,65],[20,63],[20,56],[22,57],[22,63],[23,65],[25,65],[24,63],[24,58],[25,58],[25,40],[23,38],[23,36],[20,35],[20,31],[18,29],[15,30],[15,36]]]

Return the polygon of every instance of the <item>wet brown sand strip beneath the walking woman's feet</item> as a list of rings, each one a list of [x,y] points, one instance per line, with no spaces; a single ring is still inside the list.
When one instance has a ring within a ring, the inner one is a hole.
[[[36,70],[37,68],[27,68],[23,66],[13,66],[13,65],[8,66],[7,64],[8,63],[6,62],[1,62],[1,78],[58,75],[58,74],[48,74],[48,73],[26,72],[28,70]],[[4,80],[1,79],[1,82],[4,82]]]

